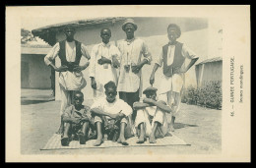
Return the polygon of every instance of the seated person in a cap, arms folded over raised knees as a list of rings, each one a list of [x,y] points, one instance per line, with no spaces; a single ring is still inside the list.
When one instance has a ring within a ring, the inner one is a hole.
[[[163,138],[167,133],[168,125],[165,112],[170,113],[171,108],[164,101],[157,101],[157,88],[148,87],[143,102],[135,102],[133,108],[137,110],[135,127],[139,131],[137,143],[144,143],[149,137],[150,143],[156,143],[156,137]]]

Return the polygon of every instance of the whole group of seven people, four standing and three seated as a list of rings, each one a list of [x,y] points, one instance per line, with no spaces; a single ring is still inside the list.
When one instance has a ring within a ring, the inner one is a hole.
[[[134,32],[138,26],[133,19],[122,25],[126,38],[118,46],[110,44],[111,30],[102,28],[102,42],[96,44],[91,54],[87,47],[74,39],[75,28],[64,29],[66,39],[57,42],[45,56],[44,62],[59,72],[61,92],[61,144],[69,145],[70,140],[96,139],[100,145],[107,135],[108,140],[128,145],[125,130],[129,126],[138,143],[149,137],[151,143],[163,138],[170,130],[174,131],[174,121],[181,102],[184,73],[198,60],[198,56],[185,44],[176,41],[181,35],[180,28],[170,24],[167,28],[169,42],[162,46],[149,79],[152,86],[142,90],[142,68],[151,64],[152,55],[146,42],[137,38]],[[53,60],[61,60],[56,67]],[[80,64],[84,56],[88,62]],[[185,65],[185,59],[190,59]],[[162,67],[163,79],[160,87],[153,86],[155,73]],[[83,105],[81,92],[87,82],[82,71],[89,67],[91,86],[94,89],[94,103],[91,107]],[[157,90],[159,95],[157,96]],[[142,98],[142,94],[146,97]],[[170,123],[166,113],[170,114]]]

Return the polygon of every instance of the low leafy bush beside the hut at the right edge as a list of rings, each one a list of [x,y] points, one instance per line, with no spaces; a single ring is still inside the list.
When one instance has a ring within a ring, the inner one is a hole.
[[[184,89],[181,97],[183,103],[200,105],[208,108],[222,109],[223,90],[222,83],[207,82],[202,87],[192,85]]]

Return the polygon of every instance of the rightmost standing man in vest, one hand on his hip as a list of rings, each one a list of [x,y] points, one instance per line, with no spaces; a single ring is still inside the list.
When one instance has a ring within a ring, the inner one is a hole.
[[[181,35],[180,28],[170,24],[167,28],[169,42],[162,46],[160,57],[153,69],[150,84],[155,82],[155,73],[163,64],[163,79],[160,83],[160,100],[167,102],[171,107],[170,130],[174,132],[174,121],[181,102],[180,91],[184,84],[184,74],[196,63],[198,56],[185,44],[176,41]],[[185,67],[185,59],[190,63]]]

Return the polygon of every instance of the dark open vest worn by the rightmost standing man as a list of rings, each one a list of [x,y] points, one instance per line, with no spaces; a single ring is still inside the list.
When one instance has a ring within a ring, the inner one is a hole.
[[[174,52],[174,59],[173,63],[167,66],[167,52],[168,52],[168,44],[162,47],[162,62],[163,62],[163,74],[167,77],[171,77],[173,75],[173,70],[176,68],[181,68],[183,65],[185,58],[182,56],[183,43],[177,42],[175,44],[175,52]]]

